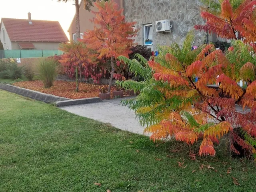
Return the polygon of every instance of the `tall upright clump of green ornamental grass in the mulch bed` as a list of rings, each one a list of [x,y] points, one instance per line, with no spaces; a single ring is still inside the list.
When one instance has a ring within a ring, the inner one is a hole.
[[[39,79],[44,83],[45,88],[53,86],[54,78],[57,75],[57,62],[52,58],[42,59],[38,63]]]

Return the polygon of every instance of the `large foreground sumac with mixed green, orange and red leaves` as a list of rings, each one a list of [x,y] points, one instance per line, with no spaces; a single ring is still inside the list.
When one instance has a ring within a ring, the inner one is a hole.
[[[160,55],[150,60],[148,67],[134,61],[133,70],[148,78],[145,82],[118,82],[140,91],[124,104],[136,111],[154,141],[171,137],[189,145],[200,142],[199,154],[214,156],[214,143],[227,135],[232,152],[242,152],[238,145],[246,155],[256,154],[256,63],[250,54],[252,47],[236,41],[226,55],[213,44],[191,51],[192,37],[188,34],[183,48],[176,43],[160,47]],[[240,79],[251,82],[246,90],[238,86]]]

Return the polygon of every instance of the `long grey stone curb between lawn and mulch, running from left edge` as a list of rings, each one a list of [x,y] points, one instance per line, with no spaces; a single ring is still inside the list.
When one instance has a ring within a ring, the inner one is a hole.
[[[45,94],[38,91],[33,91],[25,88],[16,87],[10,84],[1,84],[0,89],[9,91],[12,93],[16,93],[25,97],[29,97],[34,100],[39,100],[45,103],[57,102],[57,101],[65,101],[69,100],[68,98],[58,97],[55,95]]]

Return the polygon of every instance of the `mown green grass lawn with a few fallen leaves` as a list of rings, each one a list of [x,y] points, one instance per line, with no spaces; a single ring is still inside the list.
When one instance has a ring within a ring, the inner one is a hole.
[[[254,162],[194,161],[168,145],[0,91],[1,192],[255,192]]]

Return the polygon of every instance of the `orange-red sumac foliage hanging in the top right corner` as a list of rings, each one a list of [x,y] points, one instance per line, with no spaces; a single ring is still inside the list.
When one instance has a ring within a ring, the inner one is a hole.
[[[202,11],[202,18],[206,19],[205,25],[194,26],[197,30],[215,33],[226,39],[243,39],[246,43],[256,42],[256,0],[244,0],[233,8],[230,0],[224,0],[221,4],[221,12],[210,13]],[[252,45],[256,51],[256,44]]]

